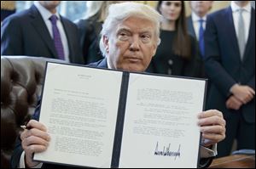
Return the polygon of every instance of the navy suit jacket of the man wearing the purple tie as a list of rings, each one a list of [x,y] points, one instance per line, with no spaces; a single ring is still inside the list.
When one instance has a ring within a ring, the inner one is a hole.
[[[71,63],[84,64],[79,47],[79,30],[70,20],[61,17],[67,36]],[[53,39],[38,8],[31,8],[3,20],[1,55],[26,55],[58,59]]]

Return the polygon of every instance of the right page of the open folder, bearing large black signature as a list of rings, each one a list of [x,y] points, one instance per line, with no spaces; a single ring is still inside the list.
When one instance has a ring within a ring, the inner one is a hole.
[[[206,82],[130,74],[119,167],[196,167]]]

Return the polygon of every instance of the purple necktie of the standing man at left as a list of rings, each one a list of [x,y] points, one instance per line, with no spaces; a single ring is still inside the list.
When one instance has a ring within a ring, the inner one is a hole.
[[[55,49],[56,52],[58,54],[59,59],[64,59],[64,49],[63,49],[63,45],[61,42],[61,34],[60,31],[56,25],[57,23],[57,16],[55,14],[53,14],[50,18],[49,18],[51,25],[52,25],[52,31],[53,31],[53,37],[54,37],[54,42],[55,42]]]

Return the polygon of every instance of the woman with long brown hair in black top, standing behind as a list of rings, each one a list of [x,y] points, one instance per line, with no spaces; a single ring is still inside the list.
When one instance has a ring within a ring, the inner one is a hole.
[[[160,23],[160,46],[148,72],[173,76],[200,76],[195,69],[196,41],[189,36],[183,1],[159,1],[157,10],[163,15]]]

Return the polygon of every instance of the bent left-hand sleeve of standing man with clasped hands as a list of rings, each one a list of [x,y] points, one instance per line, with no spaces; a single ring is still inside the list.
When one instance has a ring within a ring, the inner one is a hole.
[[[218,43],[219,35],[217,30],[217,25],[220,24],[221,23],[215,23],[212,15],[208,16],[207,30],[205,32],[205,66],[207,75],[210,77],[212,82],[216,85],[216,87],[218,87],[220,92],[224,93],[224,95],[228,97],[230,95],[230,87],[236,84],[236,81],[221,65],[222,56],[220,56],[220,47]]]

